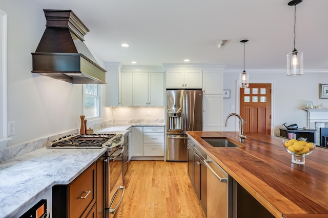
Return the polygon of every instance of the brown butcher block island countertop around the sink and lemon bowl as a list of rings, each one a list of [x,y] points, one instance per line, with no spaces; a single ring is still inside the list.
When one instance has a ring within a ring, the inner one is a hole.
[[[201,137],[238,142],[239,132],[187,132],[230,176],[275,217],[328,217],[328,150],[316,147],[305,164],[292,163],[282,138],[244,133],[242,148],[214,148]]]

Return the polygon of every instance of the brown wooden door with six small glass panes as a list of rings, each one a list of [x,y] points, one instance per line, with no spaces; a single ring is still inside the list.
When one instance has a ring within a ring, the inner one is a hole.
[[[250,83],[240,88],[240,116],[244,132],[271,134],[271,84]]]

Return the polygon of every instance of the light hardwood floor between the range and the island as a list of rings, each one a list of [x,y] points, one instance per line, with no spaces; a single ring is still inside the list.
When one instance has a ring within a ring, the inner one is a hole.
[[[130,161],[115,218],[206,217],[186,162]]]

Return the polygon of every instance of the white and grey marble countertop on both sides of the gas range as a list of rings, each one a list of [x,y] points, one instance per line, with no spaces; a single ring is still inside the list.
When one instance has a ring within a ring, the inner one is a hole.
[[[132,126],[164,126],[163,123],[113,124],[95,133],[129,132]],[[57,184],[69,184],[106,149],[42,148],[0,163],[0,217],[12,217]]]

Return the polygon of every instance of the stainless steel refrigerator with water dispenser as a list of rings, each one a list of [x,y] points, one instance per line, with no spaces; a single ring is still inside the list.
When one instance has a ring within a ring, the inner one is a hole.
[[[167,90],[166,95],[166,160],[187,161],[186,131],[202,131],[203,92]]]

